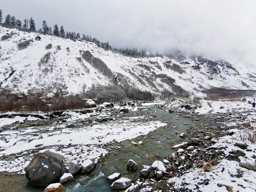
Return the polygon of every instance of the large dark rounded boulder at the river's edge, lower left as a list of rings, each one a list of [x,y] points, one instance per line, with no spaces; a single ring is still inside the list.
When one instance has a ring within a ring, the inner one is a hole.
[[[25,168],[26,177],[33,186],[46,187],[59,182],[64,157],[51,151],[36,154]]]

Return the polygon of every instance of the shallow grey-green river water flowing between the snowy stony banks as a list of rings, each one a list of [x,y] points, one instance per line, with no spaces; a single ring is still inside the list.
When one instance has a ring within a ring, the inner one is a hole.
[[[104,161],[99,164],[90,175],[77,175],[75,181],[65,185],[62,191],[111,191],[110,183],[106,177],[115,172],[121,173],[122,177],[139,178],[139,170],[142,165],[151,165],[154,161],[162,161],[164,157],[170,156],[174,150],[172,146],[183,142],[179,133],[185,132],[188,126],[193,126],[189,118],[179,117],[177,114],[169,114],[168,111],[152,107],[149,112],[154,111],[158,120],[167,124],[147,135],[142,135],[133,141],[143,141],[143,145],[131,145],[131,141],[126,140],[117,145],[119,150],[111,151]],[[131,114],[130,114],[131,115]],[[175,127],[174,127],[175,126]],[[137,171],[128,171],[126,169],[129,159],[133,159],[138,164]],[[34,188],[29,185],[25,175],[6,177],[0,175],[0,181],[3,182],[0,191],[43,191],[44,188]]]

